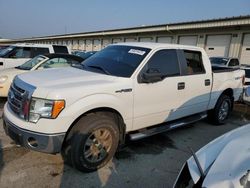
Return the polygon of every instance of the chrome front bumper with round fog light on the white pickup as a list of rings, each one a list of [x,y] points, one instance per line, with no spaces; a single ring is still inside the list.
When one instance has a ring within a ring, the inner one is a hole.
[[[42,134],[28,131],[10,122],[3,115],[5,133],[17,144],[44,153],[60,153],[65,133]]]

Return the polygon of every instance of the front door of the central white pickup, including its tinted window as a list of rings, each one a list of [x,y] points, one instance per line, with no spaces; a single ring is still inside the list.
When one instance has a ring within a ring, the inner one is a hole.
[[[177,51],[163,49],[155,52],[139,73],[155,71],[162,74],[162,80],[153,83],[134,83],[134,123],[133,129],[163,123],[169,117],[178,117],[176,109],[181,106],[184,92],[178,89],[183,82]]]

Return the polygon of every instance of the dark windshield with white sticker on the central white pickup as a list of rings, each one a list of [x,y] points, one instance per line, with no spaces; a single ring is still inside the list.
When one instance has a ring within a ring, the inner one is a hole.
[[[119,77],[130,77],[150,52],[135,46],[108,46],[82,62],[85,70]]]

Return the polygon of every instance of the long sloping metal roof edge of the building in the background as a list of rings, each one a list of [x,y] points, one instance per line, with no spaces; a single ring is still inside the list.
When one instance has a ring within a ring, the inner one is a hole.
[[[130,27],[121,29],[110,29],[110,30],[100,30],[92,32],[83,33],[71,33],[64,35],[51,35],[42,36],[34,38],[23,38],[14,39],[12,41],[29,41],[29,40],[46,40],[46,39],[62,39],[62,38],[76,38],[76,37],[94,37],[94,36],[105,36],[105,35],[118,35],[118,34],[132,34],[132,33],[146,33],[155,31],[175,31],[184,29],[202,29],[202,28],[212,28],[212,27],[230,27],[230,26],[250,26],[250,15],[245,16],[235,16],[235,17],[225,17],[198,21],[188,21],[188,22],[178,22],[169,24],[159,24],[151,26],[141,26],[141,27]]]

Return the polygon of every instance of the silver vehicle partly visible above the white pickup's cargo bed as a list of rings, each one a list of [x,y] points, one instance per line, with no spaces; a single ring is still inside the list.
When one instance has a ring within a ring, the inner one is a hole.
[[[240,61],[238,58],[228,58],[228,57],[210,57],[212,66],[222,66],[222,67],[236,67],[240,66]]]

